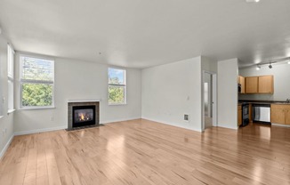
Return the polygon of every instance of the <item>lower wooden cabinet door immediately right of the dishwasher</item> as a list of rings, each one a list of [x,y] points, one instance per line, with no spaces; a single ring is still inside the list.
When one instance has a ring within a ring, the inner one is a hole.
[[[287,105],[271,104],[270,106],[270,122],[271,123],[285,125],[286,106]]]

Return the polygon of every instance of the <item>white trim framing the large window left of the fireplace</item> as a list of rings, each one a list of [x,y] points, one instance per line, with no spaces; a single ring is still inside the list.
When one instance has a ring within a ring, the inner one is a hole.
[[[36,59],[43,59],[43,60],[52,60],[53,61],[53,81],[43,81],[43,80],[28,80],[28,79],[21,79],[22,75],[22,60],[20,60],[20,109],[55,109],[54,105],[54,79],[55,79],[55,60],[48,57],[42,57],[37,55],[30,55],[30,54],[20,54],[19,58],[21,57],[29,57],[29,58],[36,58]],[[52,105],[51,106],[23,106],[22,105],[22,84],[52,84]]]

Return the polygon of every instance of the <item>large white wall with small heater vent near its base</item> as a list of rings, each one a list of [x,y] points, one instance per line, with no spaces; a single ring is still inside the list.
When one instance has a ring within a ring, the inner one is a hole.
[[[200,57],[143,69],[142,118],[200,132],[201,82]]]

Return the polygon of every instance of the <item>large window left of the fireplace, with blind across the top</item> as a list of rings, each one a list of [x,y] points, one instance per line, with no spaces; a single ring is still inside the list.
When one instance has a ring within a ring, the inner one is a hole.
[[[54,61],[20,56],[20,88],[21,108],[52,108]]]

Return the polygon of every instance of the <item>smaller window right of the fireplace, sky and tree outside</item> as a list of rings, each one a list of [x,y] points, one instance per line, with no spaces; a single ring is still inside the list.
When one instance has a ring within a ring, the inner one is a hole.
[[[117,68],[108,69],[109,78],[109,105],[126,103],[125,70]]]

